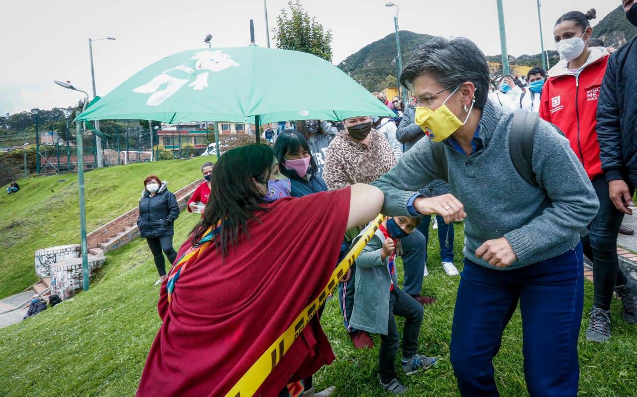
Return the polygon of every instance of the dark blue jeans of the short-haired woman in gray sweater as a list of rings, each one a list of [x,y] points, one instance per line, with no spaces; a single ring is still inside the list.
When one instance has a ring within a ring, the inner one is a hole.
[[[518,302],[531,396],[575,397],[584,298],[582,245],[513,270],[464,260],[449,346],[462,396],[499,396],[493,357]]]

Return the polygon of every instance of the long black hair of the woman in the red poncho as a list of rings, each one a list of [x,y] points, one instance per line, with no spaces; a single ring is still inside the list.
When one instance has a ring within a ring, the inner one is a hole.
[[[215,226],[220,220],[217,248],[221,249],[224,258],[229,247],[238,244],[240,233],[250,238],[248,220],[259,220],[256,213],[267,210],[262,206],[266,203],[264,194],[254,181],[267,184],[274,161],[272,148],[259,143],[234,148],[220,157],[210,179],[210,198],[204,217],[192,229],[193,246],[208,227]]]

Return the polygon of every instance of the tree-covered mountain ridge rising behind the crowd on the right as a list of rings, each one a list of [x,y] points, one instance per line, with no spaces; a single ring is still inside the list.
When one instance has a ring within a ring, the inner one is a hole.
[[[621,47],[627,40],[637,34],[637,28],[626,20],[622,6],[617,7],[604,17],[593,29],[592,37],[601,38],[606,46]],[[409,61],[411,54],[420,45],[434,36],[410,31],[399,31],[401,56],[403,65]],[[374,92],[387,87],[396,87],[396,35],[388,34],[361,48],[338,64],[345,73],[359,82],[366,89]],[[549,50],[550,65],[559,61],[557,51]],[[487,61],[502,62],[502,55],[488,55]],[[536,66],[542,64],[541,54],[509,56],[510,64]]]

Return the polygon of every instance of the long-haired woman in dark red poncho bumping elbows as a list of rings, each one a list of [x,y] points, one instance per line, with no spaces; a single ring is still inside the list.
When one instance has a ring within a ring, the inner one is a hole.
[[[162,284],[163,323],[137,396],[224,396],[320,294],[345,230],[380,212],[383,194],[363,184],[269,202],[285,196],[278,167],[266,145],[230,150],[217,162],[204,219],[177,256],[196,250],[195,259]],[[213,244],[197,250],[213,225]],[[278,396],[333,359],[313,317],[255,395]]]

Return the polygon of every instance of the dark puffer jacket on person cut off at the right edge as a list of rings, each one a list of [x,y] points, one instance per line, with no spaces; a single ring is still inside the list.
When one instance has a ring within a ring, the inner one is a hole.
[[[608,59],[597,111],[599,158],[606,180],[637,185],[637,37]]]

